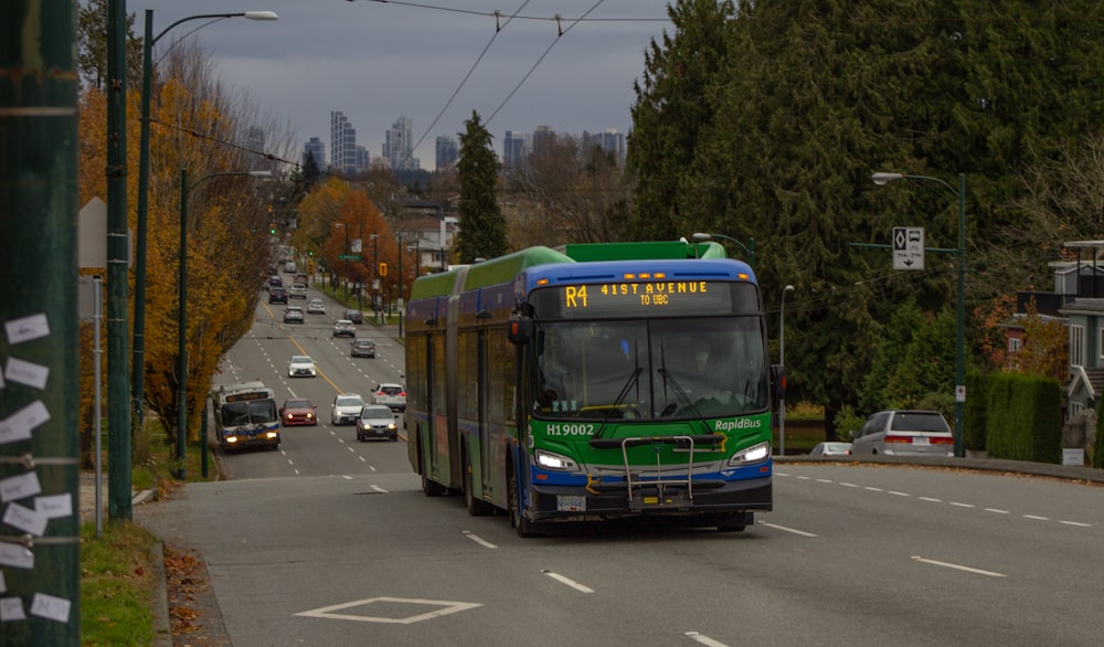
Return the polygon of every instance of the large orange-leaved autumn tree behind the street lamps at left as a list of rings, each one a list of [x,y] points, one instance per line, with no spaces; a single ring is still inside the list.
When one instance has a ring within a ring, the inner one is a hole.
[[[273,256],[267,215],[273,189],[226,174],[258,168],[257,157],[240,144],[255,116],[214,78],[210,62],[194,49],[179,47],[158,72],[164,81],[155,84],[151,100],[145,392],[147,407],[174,439],[181,191],[188,192],[188,428],[198,437],[219,362],[254,319]],[[188,171],[185,187],[181,169]]]

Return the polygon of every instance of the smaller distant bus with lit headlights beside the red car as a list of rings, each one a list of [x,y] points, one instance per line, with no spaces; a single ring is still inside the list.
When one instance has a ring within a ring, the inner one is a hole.
[[[279,447],[276,392],[264,382],[224,384],[211,392],[215,435],[224,452],[246,447]]]

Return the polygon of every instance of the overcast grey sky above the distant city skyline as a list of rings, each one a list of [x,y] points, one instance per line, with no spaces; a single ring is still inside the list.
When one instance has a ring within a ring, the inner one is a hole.
[[[372,156],[410,117],[428,170],[436,137],[463,131],[473,110],[499,155],[507,130],[627,132],[645,50],[671,31],[666,0],[128,0],[139,35],[147,9],[155,35],[189,15],[277,12],[277,22],[182,23],[158,41],[155,60],[195,39],[224,82],[290,124],[296,153],[319,137],[329,157],[330,110],[346,114]]]

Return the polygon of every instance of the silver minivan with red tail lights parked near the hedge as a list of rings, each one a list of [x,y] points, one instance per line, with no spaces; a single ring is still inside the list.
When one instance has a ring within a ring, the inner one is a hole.
[[[955,436],[937,411],[880,411],[851,432],[851,453],[954,456]]]

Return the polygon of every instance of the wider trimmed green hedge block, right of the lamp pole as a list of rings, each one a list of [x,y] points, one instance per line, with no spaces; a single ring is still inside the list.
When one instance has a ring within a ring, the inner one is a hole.
[[[1062,385],[1051,378],[992,373],[986,397],[991,458],[1062,463]]]

